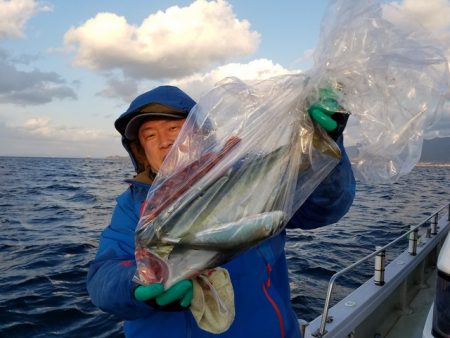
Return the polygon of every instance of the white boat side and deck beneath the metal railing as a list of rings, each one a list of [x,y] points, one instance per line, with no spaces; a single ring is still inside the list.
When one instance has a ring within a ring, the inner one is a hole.
[[[422,338],[434,301],[437,256],[450,230],[449,219],[448,211],[439,222],[436,217],[437,233],[420,238],[416,255],[405,250],[386,266],[384,285],[370,279],[331,307],[323,335],[319,316],[306,326],[304,337]]]

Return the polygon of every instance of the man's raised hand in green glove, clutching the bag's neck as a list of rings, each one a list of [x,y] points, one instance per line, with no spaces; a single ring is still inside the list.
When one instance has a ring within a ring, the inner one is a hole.
[[[349,113],[337,102],[338,94],[331,88],[319,89],[319,100],[313,102],[308,113],[335,141],[344,132]]]

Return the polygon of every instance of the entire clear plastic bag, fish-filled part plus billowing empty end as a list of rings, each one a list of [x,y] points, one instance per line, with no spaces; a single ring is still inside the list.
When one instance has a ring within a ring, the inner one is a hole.
[[[340,158],[306,113],[320,88],[336,89],[352,114],[346,145],[361,180],[392,182],[414,167],[442,114],[448,63],[421,28],[394,24],[393,11],[334,1],[310,71],[225,79],[199,101],[149,192],[136,281],[170,286],[281,231]]]

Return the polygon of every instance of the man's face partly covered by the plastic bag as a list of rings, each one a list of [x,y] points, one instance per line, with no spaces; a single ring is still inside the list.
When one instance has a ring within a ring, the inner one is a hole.
[[[139,142],[153,171],[158,172],[186,119],[154,119],[139,128]]]

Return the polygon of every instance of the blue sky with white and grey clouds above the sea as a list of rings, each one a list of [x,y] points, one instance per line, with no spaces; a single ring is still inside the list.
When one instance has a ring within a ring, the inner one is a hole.
[[[0,0],[0,156],[126,155],[113,123],[134,97],[307,70],[328,3]],[[450,1],[393,4],[450,59]]]

